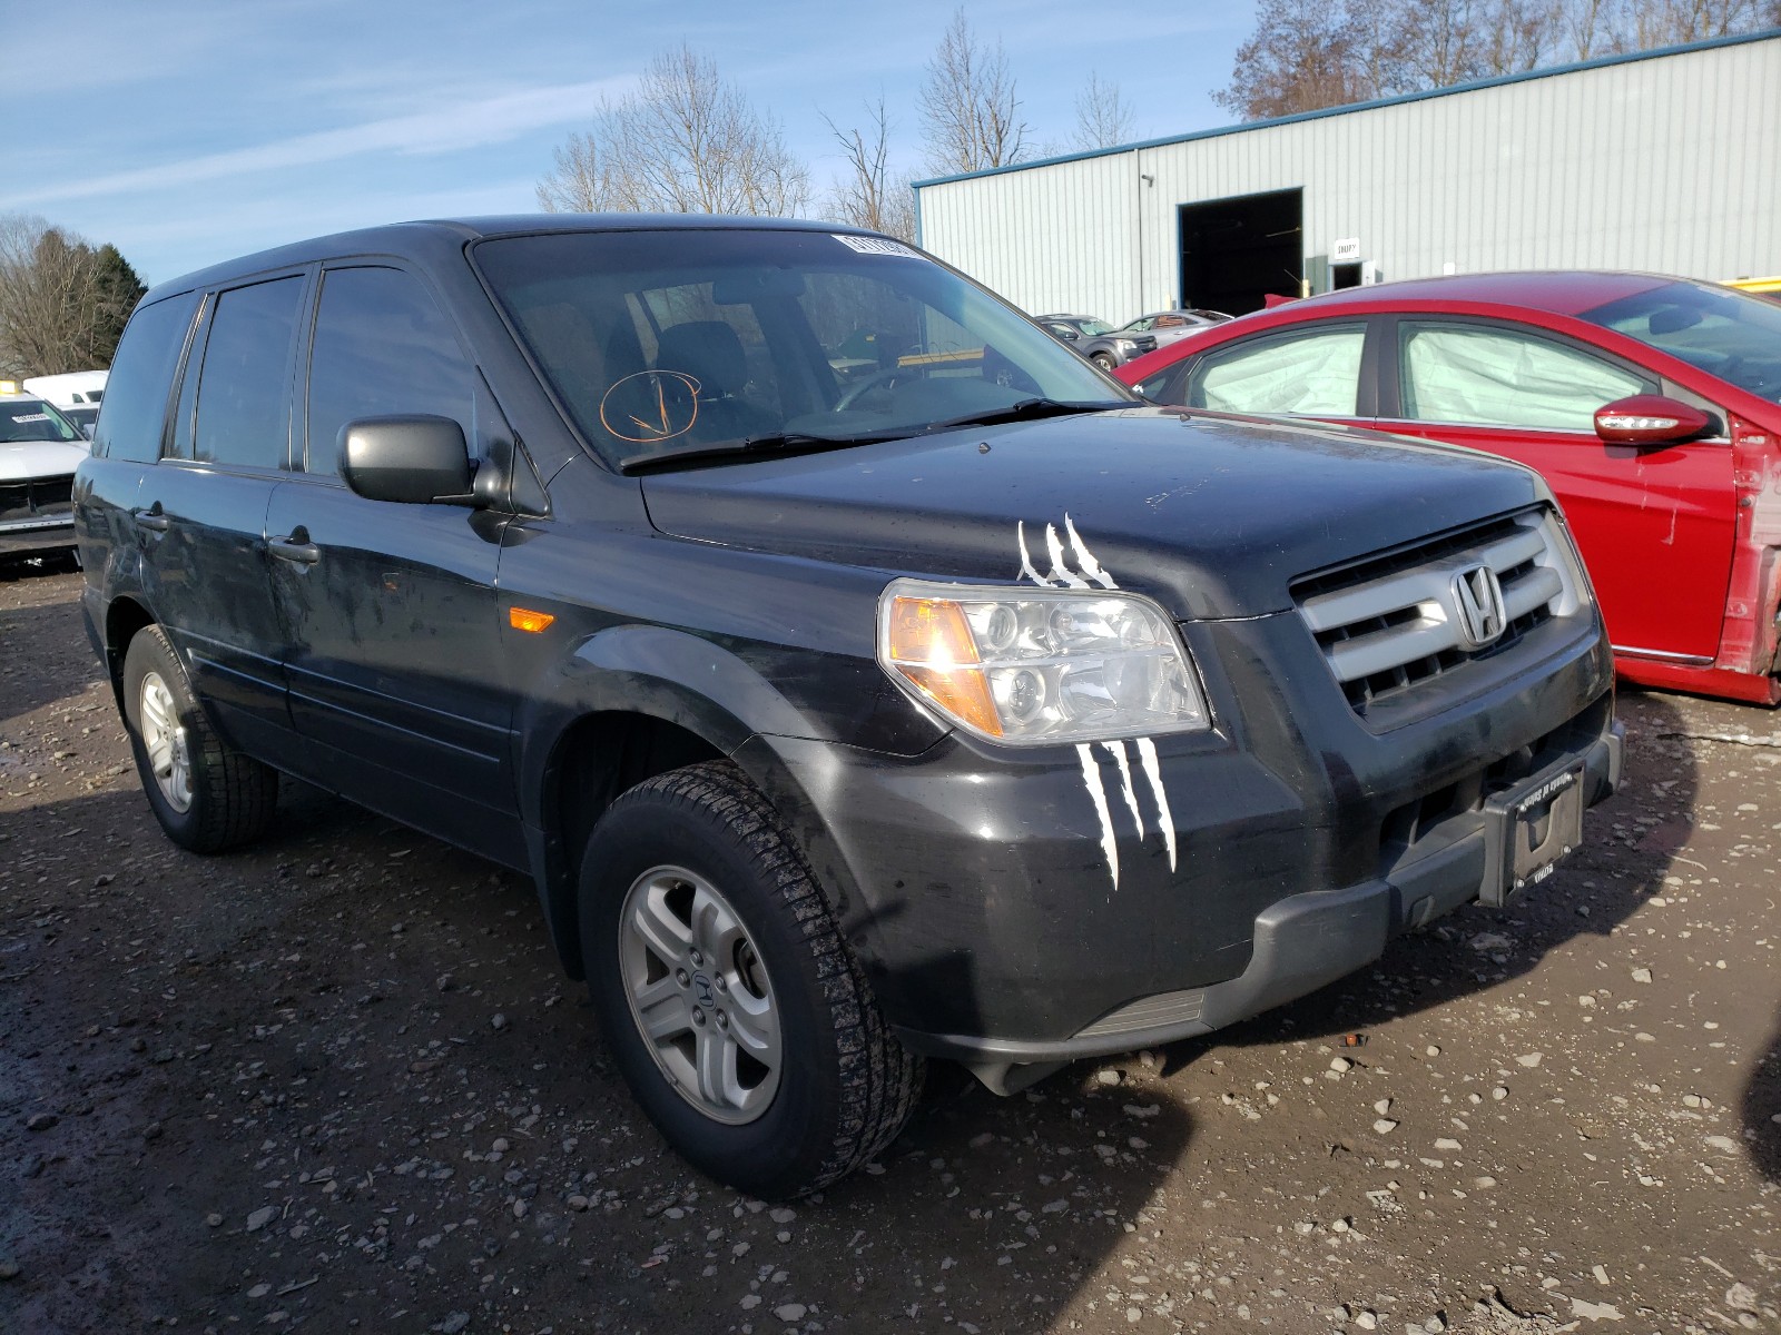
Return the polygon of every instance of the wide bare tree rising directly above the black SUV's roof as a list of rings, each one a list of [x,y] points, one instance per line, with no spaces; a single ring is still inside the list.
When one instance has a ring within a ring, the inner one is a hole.
[[[650,61],[636,93],[604,100],[538,183],[549,212],[787,217],[809,201],[810,176],[778,123],[689,46]]]

